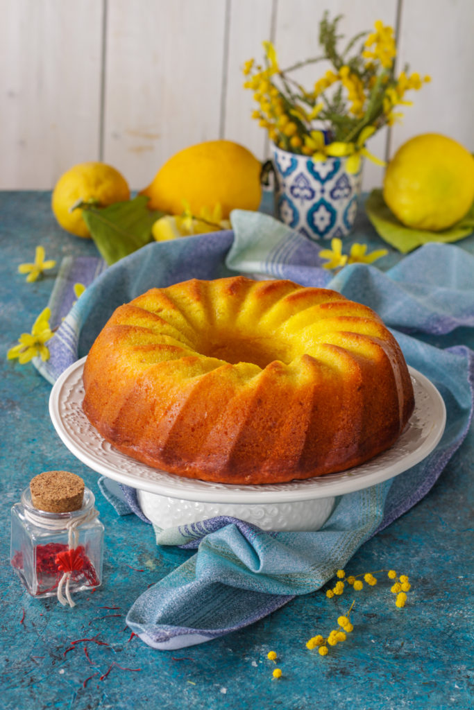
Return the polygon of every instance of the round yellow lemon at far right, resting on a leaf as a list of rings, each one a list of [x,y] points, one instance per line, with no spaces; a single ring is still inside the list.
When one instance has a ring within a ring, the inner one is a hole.
[[[384,200],[409,227],[440,231],[474,200],[474,158],[453,138],[424,133],[404,143],[384,176]]]

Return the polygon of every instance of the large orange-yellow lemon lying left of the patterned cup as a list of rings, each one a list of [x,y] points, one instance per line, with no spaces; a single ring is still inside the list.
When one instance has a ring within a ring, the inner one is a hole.
[[[232,141],[206,141],[179,151],[141,192],[151,209],[181,214],[187,202],[193,214],[217,202],[222,217],[232,209],[258,209],[262,197],[259,160]]]

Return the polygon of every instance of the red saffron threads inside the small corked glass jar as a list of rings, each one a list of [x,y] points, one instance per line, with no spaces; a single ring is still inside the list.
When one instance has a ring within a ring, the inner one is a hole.
[[[16,569],[23,571],[23,554],[16,552],[11,559],[11,564]],[[89,586],[99,584],[97,573],[89,557],[87,557],[83,545],[79,545],[75,550],[70,550],[68,545],[60,542],[36,545],[37,595],[58,589],[58,584],[64,572],[71,573],[71,581],[83,581]]]

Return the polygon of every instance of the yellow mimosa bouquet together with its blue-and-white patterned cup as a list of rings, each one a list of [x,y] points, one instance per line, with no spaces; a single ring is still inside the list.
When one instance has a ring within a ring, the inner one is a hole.
[[[340,20],[323,16],[322,52],[315,58],[281,69],[274,45],[264,42],[263,64],[251,59],[243,68],[244,88],[254,92],[258,104],[252,117],[274,146],[278,216],[312,239],[348,234],[357,210],[362,158],[384,165],[367,150],[367,140],[402,117],[399,107],[411,105],[406,92],[430,81],[410,74],[407,66],[395,75],[394,31],[382,21],[340,49]],[[313,87],[303,87],[292,76],[321,61],[330,68]]]

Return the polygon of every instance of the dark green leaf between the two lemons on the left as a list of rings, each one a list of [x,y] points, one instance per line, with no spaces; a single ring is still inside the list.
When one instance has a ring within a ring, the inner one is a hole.
[[[152,241],[151,226],[164,213],[148,209],[148,200],[139,195],[109,207],[81,205],[82,219],[108,266]]]

